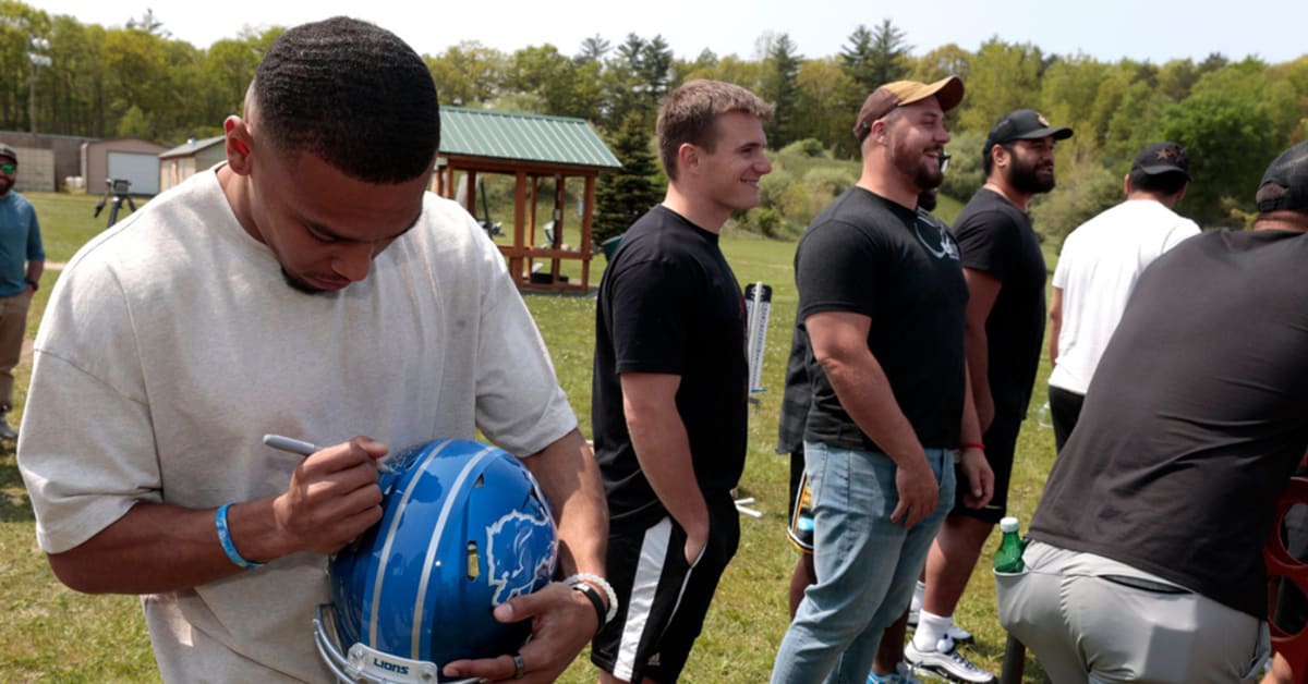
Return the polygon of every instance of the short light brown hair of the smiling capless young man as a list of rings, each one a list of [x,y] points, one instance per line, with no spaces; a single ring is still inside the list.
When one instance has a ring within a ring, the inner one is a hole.
[[[676,180],[676,150],[692,144],[713,152],[717,118],[740,111],[766,120],[772,105],[735,84],[696,78],[672,90],[658,110],[658,150],[668,180]]]

